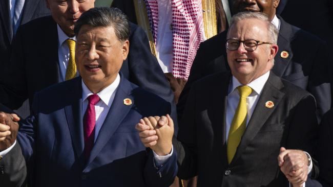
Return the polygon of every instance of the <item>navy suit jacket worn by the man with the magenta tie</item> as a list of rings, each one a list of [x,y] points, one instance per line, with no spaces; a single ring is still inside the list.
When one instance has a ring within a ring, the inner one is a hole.
[[[169,186],[173,182],[177,155],[155,168],[152,151],[145,149],[135,129],[144,116],[170,112],[170,103],[120,77],[88,160],[81,78],[36,93],[33,113],[22,122],[17,136],[32,172],[32,186]],[[133,104],[124,105],[126,98]]]

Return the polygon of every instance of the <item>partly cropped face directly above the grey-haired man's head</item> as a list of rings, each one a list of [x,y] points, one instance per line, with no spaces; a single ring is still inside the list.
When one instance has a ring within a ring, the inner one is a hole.
[[[232,12],[233,14],[244,11],[262,12],[272,20],[279,3],[280,0],[234,0]]]

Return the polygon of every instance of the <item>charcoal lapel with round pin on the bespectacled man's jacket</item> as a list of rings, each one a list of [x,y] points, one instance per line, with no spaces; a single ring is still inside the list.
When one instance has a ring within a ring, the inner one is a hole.
[[[246,149],[247,145],[252,141],[252,139],[257,135],[261,127],[266,123],[269,116],[274,112],[279,102],[284,96],[284,93],[280,91],[283,87],[281,80],[270,72],[269,78],[263,87],[262,93],[259,97],[257,106],[251,116],[250,121],[246,127],[246,130],[242,136],[241,142],[237,148],[236,154],[231,162],[231,165],[237,160],[243,151]],[[267,108],[265,103],[267,101],[273,101],[274,107]]]

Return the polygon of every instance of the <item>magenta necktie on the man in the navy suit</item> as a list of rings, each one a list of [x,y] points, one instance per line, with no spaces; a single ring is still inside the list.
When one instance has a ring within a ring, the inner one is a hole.
[[[96,112],[95,105],[100,98],[93,94],[88,97],[88,107],[84,116],[84,138],[85,138],[85,155],[86,160],[89,159],[90,152],[94,146],[95,139],[95,124],[96,124]]]

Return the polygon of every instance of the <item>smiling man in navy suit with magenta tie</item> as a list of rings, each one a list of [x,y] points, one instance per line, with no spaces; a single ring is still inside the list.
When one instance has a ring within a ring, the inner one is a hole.
[[[145,150],[135,130],[143,116],[169,113],[171,108],[119,73],[129,52],[129,34],[126,16],[118,9],[93,8],[77,20],[75,57],[81,77],[36,93],[33,114],[17,135],[16,144],[22,145],[17,154],[25,156],[32,186],[172,183],[175,152],[158,164],[158,156]],[[15,134],[17,124],[3,116],[1,120]],[[12,147],[14,139],[8,139],[7,146],[3,141],[1,148]]]

